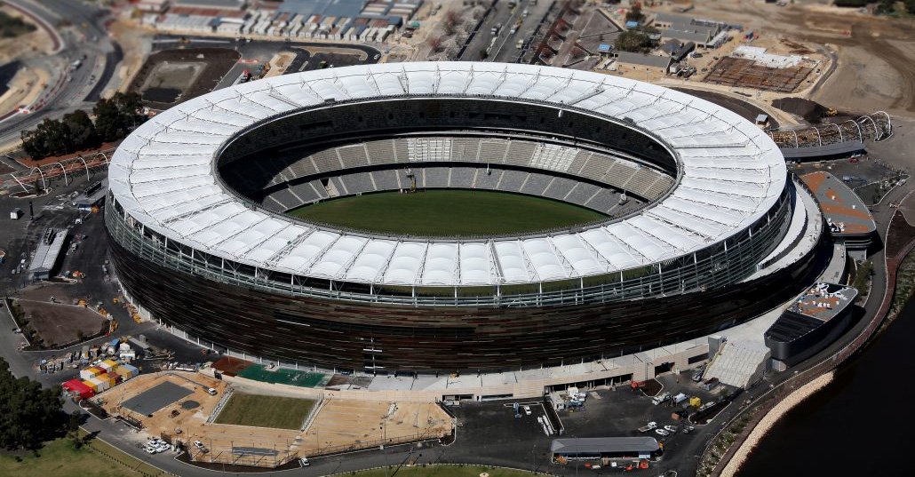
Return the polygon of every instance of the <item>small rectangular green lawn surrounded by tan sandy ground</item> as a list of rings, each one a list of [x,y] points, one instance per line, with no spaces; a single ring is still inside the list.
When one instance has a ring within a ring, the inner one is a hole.
[[[216,417],[216,424],[297,429],[313,406],[311,399],[235,393]]]

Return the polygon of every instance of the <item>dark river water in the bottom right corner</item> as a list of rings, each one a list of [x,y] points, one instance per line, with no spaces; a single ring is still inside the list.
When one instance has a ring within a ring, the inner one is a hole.
[[[915,475],[915,300],[834,381],[794,407],[738,477]]]

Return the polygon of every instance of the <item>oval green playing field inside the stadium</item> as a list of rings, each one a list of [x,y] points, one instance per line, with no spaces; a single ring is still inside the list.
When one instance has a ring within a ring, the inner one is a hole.
[[[438,237],[532,233],[604,218],[574,204],[490,190],[379,192],[318,202],[289,213],[367,232]]]

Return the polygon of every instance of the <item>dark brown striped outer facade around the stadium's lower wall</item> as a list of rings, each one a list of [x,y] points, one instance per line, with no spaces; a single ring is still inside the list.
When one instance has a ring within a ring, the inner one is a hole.
[[[127,293],[219,348],[360,372],[502,371],[591,361],[698,338],[813,283],[828,247],[758,279],[682,295],[553,307],[424,307],[287,296],[135,255],[109,235]]]

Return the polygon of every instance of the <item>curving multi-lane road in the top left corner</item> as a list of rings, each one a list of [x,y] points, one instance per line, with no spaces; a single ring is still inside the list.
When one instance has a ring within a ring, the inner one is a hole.
[[[60,38],[57,52],[29,58],[26,66],[43,68],[53,74],[48,90],[41,94],[28,114],[14,114],[0,122],[0,145],[16,143],[19,132],[38,125],[45,118],[59,118],[76,109],[91,109],[101,89],[111,80],[123,56],[105,31],[107,11],[87,2],[71,0],[5,0],[26,11],[39,25],[56,28],[52,37]],[[61,25],[72,27],[63,28]],[[81,66],[70,70],[70,64]],[[101,86],[98,86],[101,85]],[[88,100],[88,102],[87,102]]]

